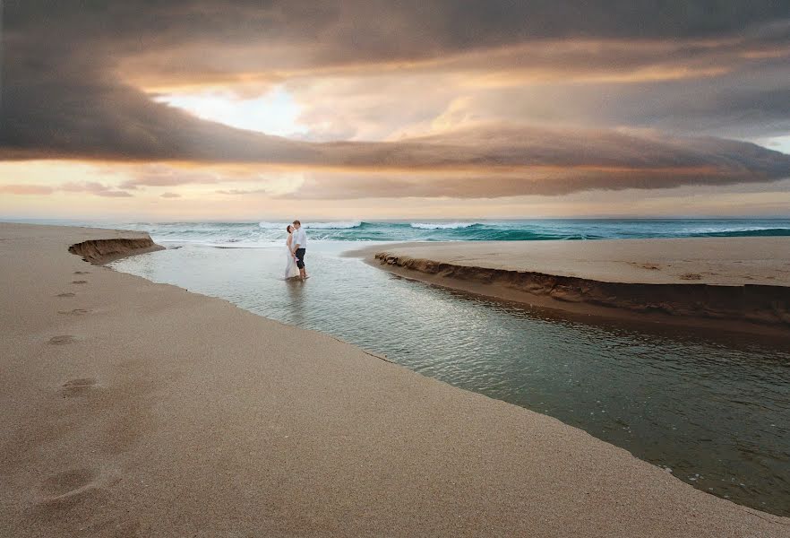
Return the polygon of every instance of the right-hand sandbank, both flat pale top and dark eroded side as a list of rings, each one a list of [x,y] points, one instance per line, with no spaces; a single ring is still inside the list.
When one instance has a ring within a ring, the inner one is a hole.
[[[360,252],[395,273],[500,299],[790,334],[790,238],[416,243]]]

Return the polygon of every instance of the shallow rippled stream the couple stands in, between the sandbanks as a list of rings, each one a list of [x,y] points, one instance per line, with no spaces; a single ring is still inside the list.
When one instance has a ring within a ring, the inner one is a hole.
[[[281,245],[173,240],[113,266],[332,334],[554,416],[700,490],[790,516],[790,342],[504,304],[340,256],[356,241],[312,239],[306,282],[280,280]]]

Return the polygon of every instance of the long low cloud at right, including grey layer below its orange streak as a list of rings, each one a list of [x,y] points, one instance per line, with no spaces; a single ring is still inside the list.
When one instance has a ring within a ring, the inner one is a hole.
[[[479,126],[355,151],[347,163],[412,173],[309,178],[293,196],[494,198],[790,178],[790,156],[756,144],[644,133]]]

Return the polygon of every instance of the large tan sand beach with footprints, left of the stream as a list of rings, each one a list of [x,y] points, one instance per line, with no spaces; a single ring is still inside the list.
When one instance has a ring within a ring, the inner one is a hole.
[[[544,415],[0,224],[3,536],[790,536]],[[156,263],[156,254],[150,256]]]

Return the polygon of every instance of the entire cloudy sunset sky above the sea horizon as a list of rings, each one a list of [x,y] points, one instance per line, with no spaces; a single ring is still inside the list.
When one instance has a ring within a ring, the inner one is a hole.
[[[0,218],[790,216],[786,0],[0,5]]]

